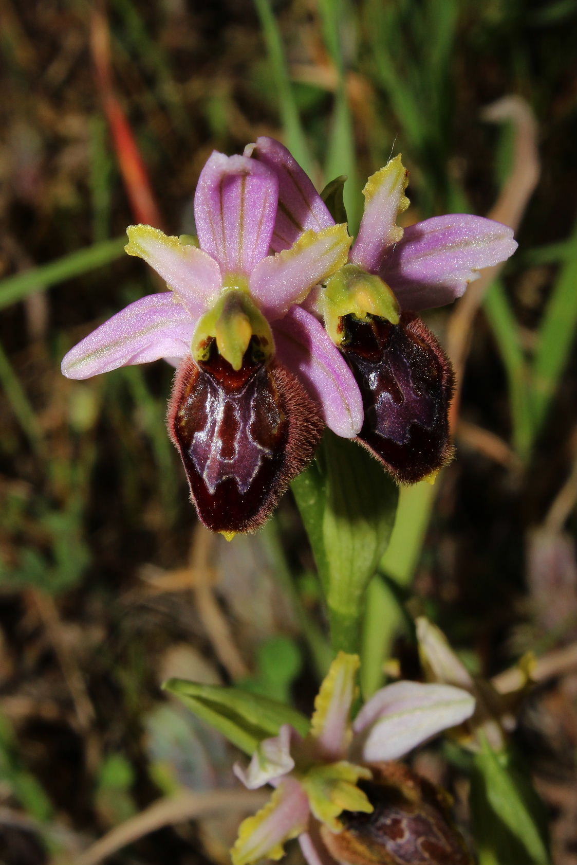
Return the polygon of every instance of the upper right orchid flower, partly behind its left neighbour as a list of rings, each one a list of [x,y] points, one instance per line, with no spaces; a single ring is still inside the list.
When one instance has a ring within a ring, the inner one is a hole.
[[[278,177],[272,249],[333,226],[325,202],[282,144],[257,138],[244,153]],[[358,441],[398,482],[415,483],[434,477],[453,453],[447,417],[453,370],[415,313],[453,303],[479,270],[508,259],[517,242],[510,227],[467,214],[434,216],[403,229],[396,221],[409,207],[407,184],[400,156],[369,177],[349,259],[307,305],[324,319],[362,393]]]

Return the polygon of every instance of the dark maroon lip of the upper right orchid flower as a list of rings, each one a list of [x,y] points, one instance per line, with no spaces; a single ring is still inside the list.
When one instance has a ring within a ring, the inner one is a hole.
[[[365,422],[358,439],[382,460],[397,483],[415,484],[447,465],[448,407],[453,368],[420,318],[346,317],[341,350],[363,394]]]

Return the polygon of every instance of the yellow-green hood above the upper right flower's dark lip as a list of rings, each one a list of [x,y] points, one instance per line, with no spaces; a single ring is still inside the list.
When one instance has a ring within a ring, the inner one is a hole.
[[[386,282],[352,264],[341,267],[328,280],[322,304],[327,333],[337,345],[346,339],[341,319],[347,315],[378,316],[391,324],[398,324],[401,317],[398,301]]]

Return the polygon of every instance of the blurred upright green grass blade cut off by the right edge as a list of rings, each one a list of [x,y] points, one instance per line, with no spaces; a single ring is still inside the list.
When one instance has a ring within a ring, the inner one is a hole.
[[[567,364],[577,327],[577,232],[539,327],[533,359],[533,433],[539,434]]]

